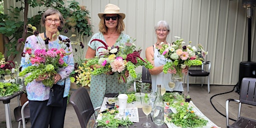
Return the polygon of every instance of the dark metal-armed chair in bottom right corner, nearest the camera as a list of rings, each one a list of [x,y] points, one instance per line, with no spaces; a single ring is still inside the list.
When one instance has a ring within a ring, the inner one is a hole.
[[[239,103],[237,120],[231,125],[229,125],[228,116],[229,101]],[[240,116],[241,104],[243,103],[256,106],[256,78],[244,77],[241,82],[239,100],[232,98],[226,100],[226,127],[256,127],[256,120]],[[253,115],[253,113],[251,114]]]

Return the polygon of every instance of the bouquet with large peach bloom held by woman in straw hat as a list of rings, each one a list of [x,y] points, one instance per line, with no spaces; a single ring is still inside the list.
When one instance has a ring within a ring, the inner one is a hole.
[[[119,39],[120,38],[118,38],[117,41]],[[99,41],[104,45],[96,49],[104,48],[99,56],[86,60],[87,66],[96,64],[101,65],[99,68],[93,68],[94,70],[91,72],[93,75],[109,71],[118,72],[118,82],[126,83],[127,79],[124,75],[125,70],[128,70],[129,74],[135,78],[135,68],[137,66],[144,65],[146,68],[153,68],[149,61],[140,57],[141,49],[135,50],[136,45],[133,43],[135,39],[128,39],[125,43],[121,45],[113,45],[112,47],[108,46],[100,39],[92,39],[91,42],[92,41]]]

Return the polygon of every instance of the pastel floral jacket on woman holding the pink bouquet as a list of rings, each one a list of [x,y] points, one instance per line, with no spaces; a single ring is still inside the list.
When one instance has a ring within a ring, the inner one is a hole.
[[[62,39],[67,38],[64,35],[59,35]],[[61,47],[61,45],[58,43],[59,39],[55,40],[55,41],[49,41],[48,44],[48,49],[51,48],[63,48]],[[23,49],[23,52],[25,52],[26,48],[31,48],[32,49],[32,54],[34,53],[35,49],[45,49],[45,43],[42,40],[41,37],[36,37],[35,35],[30,35],[26,38],[25,41],[25,46]],[[68,49],[68,48],[67,48]],[[66,52],[71,52],[72,51],[72,47],[70,45],[69,49],[70,51]],[[69,79],[69,74],[72,72],[72,70],[74,69],[74,62],[73,62],[73,54],[69,54],[63,57],[64,62],[66,62],[68,65],[66,67],[61,67],[59,68],[59,70],[57,71],[57,73],[59,73],[59,75],[61,76],[62,79],[60,79],[57,84],[59,85],[63,85],[64,84],[64,79],[65,79],[65,90],[64,90],[64,94],[63,97],[66,97],[68,95],[69,92],[69,88],[70,88],[70,79]],[[28,63],[25,62],[25,57],[21,57],[21,62],[20,62],[20,66],[22,66],[22,69],[26,68],[27,66],[31,65],[31,62],[29,61]],[[35,79],[29,83],[27,83],[26,85],[26,93],[27,93],[27,98],[29,100],[37,100],[37,101],[43,101],[49,98],[49,92],[50,92],[50,87],[45,87],[42,82],[36,82]]]

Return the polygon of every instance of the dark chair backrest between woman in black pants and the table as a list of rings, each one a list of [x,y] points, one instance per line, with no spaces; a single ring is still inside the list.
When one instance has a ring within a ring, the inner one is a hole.
[[[91,115],[94,114],[94,108],[86,88],[80,87],[74,91],[69,98],[69,102],[75,110],[81,127],[87,127]]]

